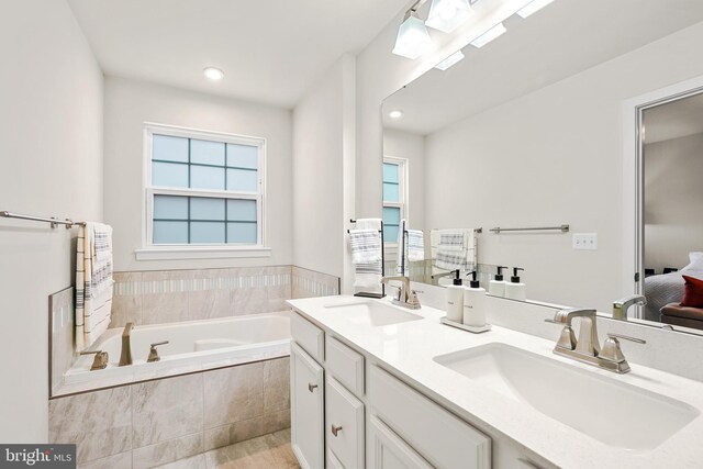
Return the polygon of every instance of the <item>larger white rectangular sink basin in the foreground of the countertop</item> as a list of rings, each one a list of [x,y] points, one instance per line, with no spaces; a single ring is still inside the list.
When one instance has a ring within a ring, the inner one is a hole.
[[[683,402],[504,344],[459,350],[434,360],[623,449],[655,449],[699,415]]]

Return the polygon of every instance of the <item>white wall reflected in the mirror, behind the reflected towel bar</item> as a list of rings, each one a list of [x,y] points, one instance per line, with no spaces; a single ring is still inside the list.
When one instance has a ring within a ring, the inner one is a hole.
[[[427,224],[540,226],[598,233],[595,252],[570,235],[482,235],[479,260],[526,269],[529,299],[609,311],[621,284],[623,103],[703,75],[703,24],[445,127],[426,138]],[[657,64],[652,67],[652,64]],[[510,135],[506,138],[505,135]],[[471,194],[466,198],[466,181]],[[461,211],[450,201],[461,200]]]

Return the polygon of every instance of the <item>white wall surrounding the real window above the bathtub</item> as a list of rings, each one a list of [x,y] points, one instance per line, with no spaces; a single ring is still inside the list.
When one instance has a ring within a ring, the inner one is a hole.
[[[216,86],[216,85],[213,85]],[[291,264],[291,112],[123,78],[105,79],[104,211],[114,227],[115,270],[196,269]],[[268,258],[136,260],[142,244],[144,123],[266,138]]]

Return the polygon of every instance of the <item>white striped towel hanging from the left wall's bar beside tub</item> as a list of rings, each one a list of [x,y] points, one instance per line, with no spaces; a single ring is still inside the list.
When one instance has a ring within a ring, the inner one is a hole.
[[[80,351],[110,325],[112,227],[86,223],[76,250],[76,350]]]

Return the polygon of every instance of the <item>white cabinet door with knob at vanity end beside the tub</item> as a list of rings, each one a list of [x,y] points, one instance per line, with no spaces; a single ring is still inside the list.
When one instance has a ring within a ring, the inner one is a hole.
[[[324,467],[324,370],[290,344],[291,446],[304,469]]]

